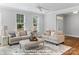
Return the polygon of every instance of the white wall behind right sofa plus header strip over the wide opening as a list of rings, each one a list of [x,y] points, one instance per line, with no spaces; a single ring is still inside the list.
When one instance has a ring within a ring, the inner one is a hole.
[[[64,14],[64,13],[69,13],[79,10],[79,6],[71,7],[71,8],[66,8],[62,10],[57,10],[57,11],[52,11],[50,13],[47,13],[44,15],[44,31],[47,29],[55,29],[56,30],[56,15],[59,14]]]

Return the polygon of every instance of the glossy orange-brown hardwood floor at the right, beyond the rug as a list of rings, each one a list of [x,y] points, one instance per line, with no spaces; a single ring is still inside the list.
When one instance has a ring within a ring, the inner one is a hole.
[[[66,36],[64,44],[71,46],[72,48],[63,55],[79,55],[79,38]]]

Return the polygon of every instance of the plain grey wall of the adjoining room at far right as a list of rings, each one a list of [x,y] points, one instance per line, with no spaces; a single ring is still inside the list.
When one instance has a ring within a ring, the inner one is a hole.
[[[79,14],[64,16],[64,32],[67,36],[79,37]]]

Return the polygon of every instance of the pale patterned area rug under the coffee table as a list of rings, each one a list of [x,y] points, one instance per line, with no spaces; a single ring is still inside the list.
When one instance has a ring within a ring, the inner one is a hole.
[[[72,47],[63,44],[54,45],[52,43],[44,43],[44,47],[36,50],[20,49],[19,44],[13,46],[0,47],[0,55],[62,55]]]

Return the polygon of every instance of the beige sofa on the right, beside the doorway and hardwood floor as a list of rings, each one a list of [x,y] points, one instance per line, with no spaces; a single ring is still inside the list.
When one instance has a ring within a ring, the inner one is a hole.
[[[45,40],[56,45],[64,42],[64,33],[61,31],[47,31],[48,33],[44,34],[43,37],[46,38]]]

